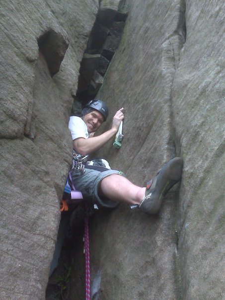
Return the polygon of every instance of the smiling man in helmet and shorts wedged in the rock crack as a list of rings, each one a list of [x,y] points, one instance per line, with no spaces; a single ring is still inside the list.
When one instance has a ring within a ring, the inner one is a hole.
[[[102,100],[89,101],[82,109],[81,117],[70,117],[69,129],[74,148],[72,180],[83,198],[97,205],[114,208],[119,202],[124,202],[146,214],[157,214],[165,194],[181,179],[183,160],[180,157],[169,160],[147,183],[147,187],[133,184],[120,171],[88,164],[88,154],[115,137],[124,119],[123,111],[123,108],[119,109],[111,128],[96,137],[94,133],[108,117],[108,107]]]

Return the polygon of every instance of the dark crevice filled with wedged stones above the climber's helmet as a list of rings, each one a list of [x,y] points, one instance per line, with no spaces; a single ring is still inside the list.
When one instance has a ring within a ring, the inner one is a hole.
[[[118,11],[119,2],[113,2],[101,1],[80,63],[75,102],[83,105],[97,95],[121,40],[127,13]]]

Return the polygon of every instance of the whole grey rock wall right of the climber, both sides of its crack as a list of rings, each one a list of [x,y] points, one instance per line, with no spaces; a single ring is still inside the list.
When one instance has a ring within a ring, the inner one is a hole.
[[[124,8],[122,41],[97,97],[111,117],[125,108],[125,138],[99,156],[140,185],[175,155],[184,170],[158,216],[120,206],[93,218],[93,299],[225,299],[224,1]]]

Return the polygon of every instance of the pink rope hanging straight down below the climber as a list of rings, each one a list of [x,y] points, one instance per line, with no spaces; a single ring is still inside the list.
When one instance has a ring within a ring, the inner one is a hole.
[[[87,204],[86,204],[87,212]],[[89,232],[88,232],[88,215],[84,220],[84,251],[85,251],[85,291],[86,300],[90,300],[90,255],[89,255]]]

